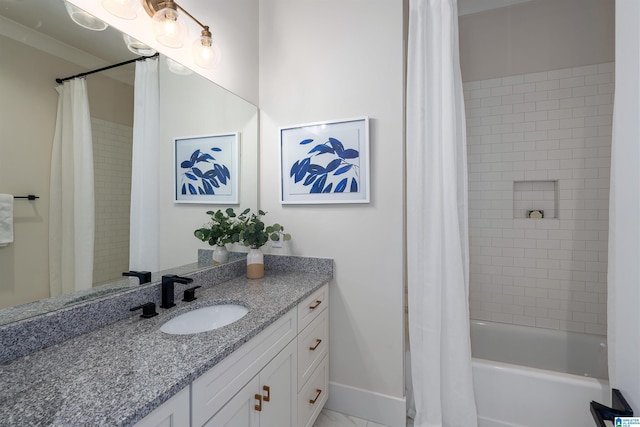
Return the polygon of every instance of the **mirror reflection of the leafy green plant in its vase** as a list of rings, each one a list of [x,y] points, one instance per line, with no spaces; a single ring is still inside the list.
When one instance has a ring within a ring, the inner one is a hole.
[[[211,220],[193,232],[196,238],[203,242],[208,242],[213,246],[212,262],[219,264],[229,259],[228,243],[240,241],[242,223],[237,220],[236,213],[232,208],[227,208],[224,212],[207,211]]]

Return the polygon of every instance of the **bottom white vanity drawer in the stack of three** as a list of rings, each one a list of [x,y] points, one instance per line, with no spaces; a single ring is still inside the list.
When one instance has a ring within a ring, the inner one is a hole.
[[[327,402],[329,388],[329,356],[325,356],[309,382],[298,393],[298,426],[311,427]]]

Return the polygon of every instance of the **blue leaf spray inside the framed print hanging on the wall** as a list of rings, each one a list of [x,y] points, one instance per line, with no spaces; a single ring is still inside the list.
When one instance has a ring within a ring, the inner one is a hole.
[[[314,139],[303,139],[299,145],[309,145]],[[302,183],[309,194],[357,193],[360,180],[360,152],[345,148],[338,138],[328,137],[316,143],[291,165],[289,178]]]

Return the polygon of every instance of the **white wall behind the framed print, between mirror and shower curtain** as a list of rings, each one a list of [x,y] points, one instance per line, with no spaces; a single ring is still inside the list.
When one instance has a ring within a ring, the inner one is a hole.
[[[328,407],[404,425],[403,2],[260,2],[260,206],[335,260]],[[371,118],[371,203],[282,206],[278,128]]]

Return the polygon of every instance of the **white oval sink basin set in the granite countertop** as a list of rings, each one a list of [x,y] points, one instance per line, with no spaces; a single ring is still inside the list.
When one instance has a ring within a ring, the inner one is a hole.
[[[181,314],[165,322],[160,330],[167,334],[188,335],[211,331],[243,318],[249,309],[238,304],[218,304]]]

